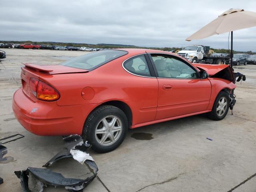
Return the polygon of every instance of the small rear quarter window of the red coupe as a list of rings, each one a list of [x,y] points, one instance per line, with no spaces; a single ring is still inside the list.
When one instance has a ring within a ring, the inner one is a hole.
[[[124,68],[136,75],[151,76],[144,55],[138,55],[126,60],[124,62]]]

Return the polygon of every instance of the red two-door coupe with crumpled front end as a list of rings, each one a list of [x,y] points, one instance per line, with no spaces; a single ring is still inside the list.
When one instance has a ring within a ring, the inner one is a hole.
[[[228,65],[191,64],[170,52],[102,50],[59,65],[25,64],[13,96],[17,120],[44,136],[82,135],[97,152],[128,128],[196,114],[222,120],[234,99]]]

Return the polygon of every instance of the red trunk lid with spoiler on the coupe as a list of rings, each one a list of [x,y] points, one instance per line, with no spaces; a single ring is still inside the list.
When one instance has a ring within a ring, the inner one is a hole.
[[[36,72],[44,73],[45,75],[65,74],[65,73],[85,73],[89,72],[85,69],[73,68],[63,65],[36,65],[32,63],[23,63],[26,68],[35,70]]]

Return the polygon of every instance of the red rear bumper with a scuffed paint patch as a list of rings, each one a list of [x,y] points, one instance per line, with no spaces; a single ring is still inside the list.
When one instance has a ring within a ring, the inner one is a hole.
[[[97,104],[58,106],[57,102],[34,102],[18,89],[12,109],[18,122],[29,132],[42,136],[82,134],[84,121]]]

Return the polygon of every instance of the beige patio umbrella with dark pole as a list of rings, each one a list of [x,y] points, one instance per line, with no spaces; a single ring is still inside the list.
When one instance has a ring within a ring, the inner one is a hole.
[[[233,58],[233,31],[256,26],[256,12],[230,9],[186,38],[186,41],[203,39],[212,35],[231,32],[231,67]]]

